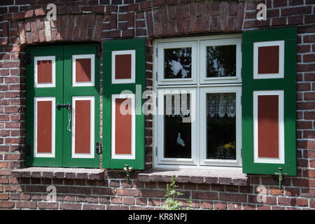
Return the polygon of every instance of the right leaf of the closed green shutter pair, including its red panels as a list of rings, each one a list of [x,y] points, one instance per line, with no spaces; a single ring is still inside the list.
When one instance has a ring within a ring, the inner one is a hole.
[[[64,167],[99,167],[99,155],[95,150],[95,144],[100,141],[98,45],[64,45],[64,104],[69,103],[72,107],[71,132],[68,130],[69,112],[63,110]],[[78,65],[81,65],[84,73],[91,72],[90,78],[84,74],[83,77],[77,77],[79,72],[74,70],[79,62],[81,64]]]

